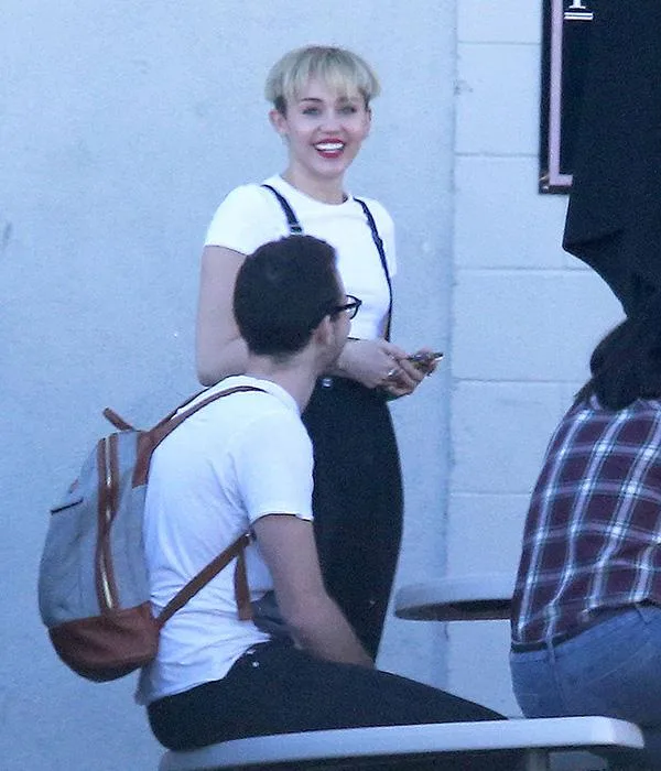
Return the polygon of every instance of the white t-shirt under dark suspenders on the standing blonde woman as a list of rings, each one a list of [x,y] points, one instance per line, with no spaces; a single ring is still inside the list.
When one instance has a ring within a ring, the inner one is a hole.
[[[337,269],[347,292],[362,300],[349,335],[362,339],[381,337],[389,304],[388,283],[360,205],[350,196],[343,204],[324,204],[292,187],[281,176],[272,176],[266,184],[286,198],[305,235],[321,238],[335,248]],[[378,200],[362,200],[375,218],[388,270],[393,276],[397,262],[392,219]],[[275,196],[260,185],[250,184],[236,187],[220,204],[205,243],[251,254],[262,243],[288,235],[286,217]]]

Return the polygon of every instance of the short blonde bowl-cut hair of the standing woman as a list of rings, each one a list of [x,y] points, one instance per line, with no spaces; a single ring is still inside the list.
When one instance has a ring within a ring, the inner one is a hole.
[[[358,91],[366,106],[381,90],[373,69],[357,54],[329,45],[306,45],[295,48],[275,62],[267,77],[267,99],[283,115],[311,78],[318,78],[328,88],[349,96]]]

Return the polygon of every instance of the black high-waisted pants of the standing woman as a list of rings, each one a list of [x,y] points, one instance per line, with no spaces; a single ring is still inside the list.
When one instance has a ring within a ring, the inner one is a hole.
[[[376,658],[402,532],[402,481],[379,391],[325,378],[303,414],[314,446],[314,530],[328,594]]]

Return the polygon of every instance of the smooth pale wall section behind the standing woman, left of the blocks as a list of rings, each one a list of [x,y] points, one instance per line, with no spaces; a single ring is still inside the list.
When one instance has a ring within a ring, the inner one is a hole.
[[[155,769],[132,680],[85,683],[48,645],[35,601],[48,506],[108,431],[104,406],[145,425],[197,388],[204,230],[232,186],[284,165],[262,83],[296,45],[346,45],[379,73],[349,186],[397,224],[397,340],[447,350],[455,3],[8,0],[2,10],[0,768]],[[445,561],[448,390],[445,370],[394,410],[401,583]],[[440,683],[444,643],[441,625],[391,619],[380,663]]]

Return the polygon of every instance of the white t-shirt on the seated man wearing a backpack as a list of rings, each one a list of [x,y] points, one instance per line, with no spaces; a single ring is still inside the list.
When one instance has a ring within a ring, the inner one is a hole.
[[[251,523],[270,513],[312,520],[312,444],[294,399],[267,380],[237,376],[234,386],[178,426],[156,448],[144,511],[153,610],[160,610]],[[251,599],[273,588],[256,543],[246,552]],[[238,618],[232,561],[167,621],[156,660],[142,670],[137,701],[149,704],[224,677],[251,645],[269,639]]]

